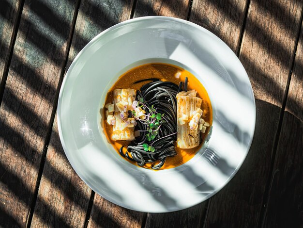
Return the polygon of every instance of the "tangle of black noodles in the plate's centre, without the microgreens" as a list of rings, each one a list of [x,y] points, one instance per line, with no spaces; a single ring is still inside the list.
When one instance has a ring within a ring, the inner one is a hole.
[[[135,130],[142,131],[140,132],[140,136],[137,137],[135,141],[132,141],[127,147],[128,152],[125,153],[126,158],[135,161],[139,166],[159,161],[158,164],[152,165],[152,169],[160,169],[164,165],[167,157],[177,154],[175,150],[175,133],[177,132],[176,95],[180,89],[180,86],[169,81],[152,81],[143,85],[140,91],[137,91],[136,99],[138,100],[138,96],[140,96],[144,99],[147,106],[151,107],[153,105],[158,113],[164,114],[164,119],[167,122],[162,124],[157,137],[153,141],[148,142],[145,136],[147,132],[143,131],[146,130],[146,125],[137,121]],[[145,107],[142,109],[146,111],[146,114],[149,113],[149,110]],[[144,143],[149,145],[153,143],[155,151],[145,151],[142,146]],[[129,153],[131,154],[131,157],[129,156]]]

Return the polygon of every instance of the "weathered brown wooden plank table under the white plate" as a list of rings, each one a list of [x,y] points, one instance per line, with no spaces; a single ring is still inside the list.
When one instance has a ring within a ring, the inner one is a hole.
[[[302,0],[0,0],[1,227],[303,227]],[[219,193],[171,213],[95,194],[57,129],[61,82],[98,33],[132,17],[187,19],[238,55],[253,86],[249,154]]]

